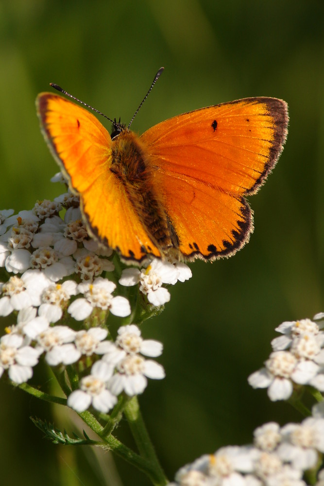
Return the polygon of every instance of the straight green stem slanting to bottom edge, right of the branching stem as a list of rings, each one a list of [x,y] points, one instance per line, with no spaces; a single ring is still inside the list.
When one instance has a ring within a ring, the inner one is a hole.
[[[168,480],[158,461],[153,444],[140,413],[137,397],[133,397],[131,400],[129,400],[124,409],[124,415],[127,418],[140,455],[149,460],[152,464],[152,468],[155,471],[156,477],[159,481],[156,484],[168,484]]]

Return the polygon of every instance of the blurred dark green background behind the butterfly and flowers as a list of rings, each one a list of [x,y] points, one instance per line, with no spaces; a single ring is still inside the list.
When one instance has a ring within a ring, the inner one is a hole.
[[[164,343],[167,377],[151,381],[140,404],[170,478],[205,452],[250,442],[265,421],[300,419],[247,377],[268,357],[278,324],[324,310],[323,25],[320,0],[0,2],[1,208],[29,209],[62,191],[50,182],[57,166],[34,108],[50,82],[128,122],[164,66],[132,126],[138,133],[248,96],[289,104],[286,148],[250,200],[250,243],[229,260],[192,264],[193,278],[172,288],[165,311],[143,326],[145,337]],[[50,378],[37,373],[47,386]],[[102,473],[84,448],[45,441],[29,417],[60,424],[63,410],[53,416],[3,381],[0,390],[1,484],[149,484],[117,460],[119,479],[109,454],[98,459]],[[76,427],[65,426],[70,434]],[[117,435],[131,444],[126,423]]]

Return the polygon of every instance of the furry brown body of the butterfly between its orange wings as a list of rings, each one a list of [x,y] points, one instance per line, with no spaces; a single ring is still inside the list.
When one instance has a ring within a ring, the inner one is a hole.
[[[158,197],[155,170],[145,147],[135,134],[125,130],[112,141],[111,150],[111,172],[121,181],[153,243],[164,253],[177,239],[171,237],[174,229]]]

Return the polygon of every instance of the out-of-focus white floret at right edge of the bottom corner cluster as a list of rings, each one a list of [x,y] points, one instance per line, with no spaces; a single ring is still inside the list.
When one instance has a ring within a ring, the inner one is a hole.
[[[301,424],[287,424],[281,429],[283,442],[277,452],[294,469],[311,469],[324,452],[324,418],[308,417]]]

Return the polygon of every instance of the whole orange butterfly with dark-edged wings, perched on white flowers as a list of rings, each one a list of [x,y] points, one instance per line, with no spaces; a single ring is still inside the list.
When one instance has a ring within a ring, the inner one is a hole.
[[[253,231],[245,196],[263,184],[287,137],[287,104],[276,98],[208,106],[139,137],[116,121],[111,137],[91,113],[56,94],[41,93],[36,104],[89,233],[137,262],[233,255]]]

